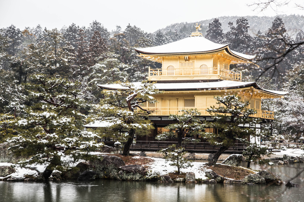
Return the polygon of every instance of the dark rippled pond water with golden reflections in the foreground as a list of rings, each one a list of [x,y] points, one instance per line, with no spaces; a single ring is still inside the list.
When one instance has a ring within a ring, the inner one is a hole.
[[[258,165],[252,167],[260,169]],[[288,180],[303,167],[303,163],[296,163],[262,169],[278,173],[283,180]],[[166,184],[116,180],[45,183],[0,181],[0,201],[304,201],[302,179],[304,173],[292,180],[301,187],[292,188],[285,185]]]

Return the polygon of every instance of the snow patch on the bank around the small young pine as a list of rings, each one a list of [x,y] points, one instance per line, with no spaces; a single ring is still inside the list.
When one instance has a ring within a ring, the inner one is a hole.
[[[151,158],[152,160],[154,160],[154,162],[150,165],[148,165],[150,167],[150,170],[152,171],[158,171],[161,173],[161,175],[165,175],[168,173],[172,173],[175,170],[177,170],[176,166],[170,166],[169,163],[170,161],[168,161],[167,163],[165,162],[165,159],[161,159],[161,158]],[[188,167],[188,168],[181,168],[181,172],[193,172],[195,173],[195,178],[202,178],[203,180],[206,180],[207,177],[205,177],[205,172],[203,170],[205,170],[204,165],[206,163],[202,163],[202,162],[192,162],[193,167]]]

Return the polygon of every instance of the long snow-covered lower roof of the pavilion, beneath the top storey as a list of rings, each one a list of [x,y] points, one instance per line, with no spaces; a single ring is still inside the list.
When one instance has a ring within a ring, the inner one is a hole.
[[[134,87],[143,85],[141,82],[133,82]],[[114,90],[114,89],[127,89],[120,84],[105,84],[98,85],[102,89]],[[256,82],[241,82],[241,81],[214,81],[214,82],[193,82],[193,83],[183,83],[183,82],[174,82],[174,83],[160,83],[157,82],[154,84],[155,89],[164,90],[164,91],[174,91],[174,90],[220,90],[220,89],[236,89],[253,86],[256,89],[261,91],[276,95],[284,96],[288,92],[285,91],[274,91],[267,90],[259,87]]]

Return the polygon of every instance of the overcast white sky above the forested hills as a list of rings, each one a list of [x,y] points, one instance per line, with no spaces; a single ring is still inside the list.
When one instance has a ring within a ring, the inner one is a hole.
[[[274,16],[277,14],[304,15],[304,10],[288,5],[264,12],[248,7],[254,0],[0,0],[0,28],[11,24],[20,29],[42,27],[52,29],[71,25],[88,26],[93,20],[101,22],[109,31],[120,25],[136,25],[146,32],[154,32],[177,22],[197,22],[225,15]],[[256,0],[258,1],[258,0]],[[264,0],[261,0],[264,1]],[[283,0],[279,0],[283,1]]]

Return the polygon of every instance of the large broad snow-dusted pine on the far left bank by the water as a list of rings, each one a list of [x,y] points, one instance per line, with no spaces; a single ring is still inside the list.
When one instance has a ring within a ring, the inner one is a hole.
[[[23,163],[47,165],[43,177],[47,180],[54,169],[69,168],[71,161],[85,159],[84,151],[100,146],[98,136],[83,130],[85,116],[80,113],[85,104],[78,83],[60,77],[34,75],[27,84],[33,106],[18,120],[18,136],[11,138],[10,149],[15,155],[31,157]],[[64,161],[70,156],[71,160]]]

